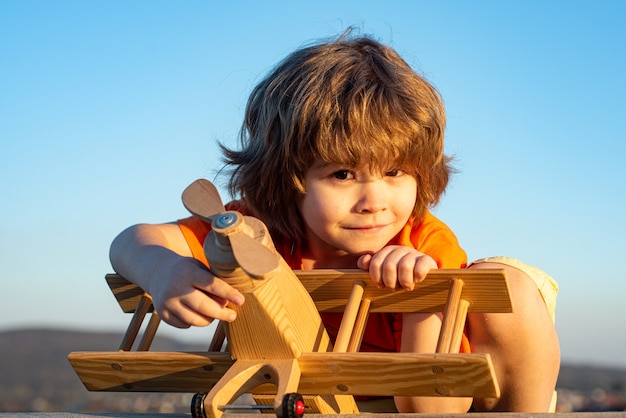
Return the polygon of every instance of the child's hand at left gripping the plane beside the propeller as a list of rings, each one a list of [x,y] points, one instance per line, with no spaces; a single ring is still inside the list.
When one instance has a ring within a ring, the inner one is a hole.
[[[228,302],[241,305],[243,295],[209,272],[199,261],[179,257],[169,274],[163,271],[151,283],[150,295],[161,319],[177,328],[206,326],[214,319],[231,322],[234,310]]]

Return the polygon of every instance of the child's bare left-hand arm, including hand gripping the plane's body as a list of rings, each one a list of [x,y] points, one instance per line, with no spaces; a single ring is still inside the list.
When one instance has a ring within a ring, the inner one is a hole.
[[[152,297],[161,318],[178,328],[206,326],[213,319],[233,321],[243,295],[215,277],[198,260],[177,224],[139,224],[111,244],[113,269]]]

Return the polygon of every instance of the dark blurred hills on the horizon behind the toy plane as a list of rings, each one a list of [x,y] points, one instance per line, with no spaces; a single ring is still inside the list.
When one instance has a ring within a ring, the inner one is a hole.
[[[88,392],[70,366],[72,351],[114,351],[119,333],[62,329],[0,332],[0,412],[187,413],[191,394],[120,394]],[[198,351],[171,338],[157,337],[153,349]],[[626,390],[626,370],[588,365],[561,367],[560,390]]]

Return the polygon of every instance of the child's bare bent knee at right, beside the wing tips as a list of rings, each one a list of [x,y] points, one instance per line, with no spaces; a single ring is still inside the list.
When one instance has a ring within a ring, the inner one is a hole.
[[[514,311],[468,315],[472,351],[491,355],[502,390],[501,399],[484,402],[479,409],[545,410],[558,376],[560,348],[536,280],[509,265],[482,262],[470,268],[504,269]]]

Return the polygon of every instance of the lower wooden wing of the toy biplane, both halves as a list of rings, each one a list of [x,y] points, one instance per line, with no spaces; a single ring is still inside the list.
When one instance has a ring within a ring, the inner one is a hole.
[[[208,352],[76,352],[69,360],[88,390],[114,392],[207,392],[235,363]],[[305,353],[298,364],[302,394],[499,396],[487,354]]]

